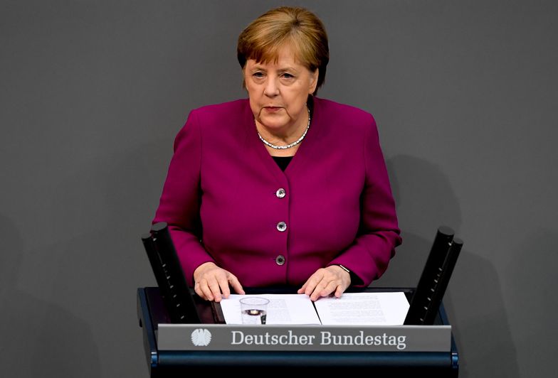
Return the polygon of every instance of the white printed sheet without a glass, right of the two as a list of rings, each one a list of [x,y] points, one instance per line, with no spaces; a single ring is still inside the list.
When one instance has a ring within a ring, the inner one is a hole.
[[[314,305],[322,325],[403,325],[409,301],[402,291],[343,293]]]

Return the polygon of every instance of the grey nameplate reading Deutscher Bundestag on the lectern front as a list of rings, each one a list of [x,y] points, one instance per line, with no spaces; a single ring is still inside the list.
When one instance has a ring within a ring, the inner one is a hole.
[[[159,350],[449,352],[451,325],[164,324]]]

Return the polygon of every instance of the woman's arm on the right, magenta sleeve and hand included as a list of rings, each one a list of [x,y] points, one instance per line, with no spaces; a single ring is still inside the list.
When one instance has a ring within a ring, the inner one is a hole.
[[[355,121],[358,121],[355,119]],[[366,287],[386,270],[401,244],[395,203],[379,145],[374,118],[367,114],[362,138],[364,183],[359,195],[359,228],[352,244],[317,269],[298,291],[315,301],[335,292],[339,297],[349,285]],[[343,269],[347,268],[349,271]]]

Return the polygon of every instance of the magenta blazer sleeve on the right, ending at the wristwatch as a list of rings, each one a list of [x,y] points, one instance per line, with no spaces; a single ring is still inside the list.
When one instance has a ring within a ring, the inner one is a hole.
[[[353,244],[331,262],[346,266],[354,278],[352,286],[357,287],[369,286],[374,279],[379,279],[394,256],[395,248],[401,244],[378,130],[374,118],[370,117],[371,124],[363,139],[366,178],[360,200],[359,232]]]

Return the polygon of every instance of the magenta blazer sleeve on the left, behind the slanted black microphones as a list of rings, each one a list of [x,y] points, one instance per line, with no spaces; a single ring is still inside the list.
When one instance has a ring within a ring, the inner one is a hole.
[[[167,179],[165,180],[156,222],[167,222],[177,249],[186,282],[194,284],[194,270],[204,262],[214,261],[201,244],[201,152],[199,117],[192,111],[174,139]]]

